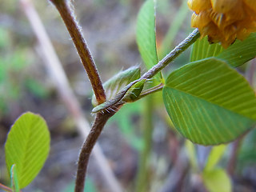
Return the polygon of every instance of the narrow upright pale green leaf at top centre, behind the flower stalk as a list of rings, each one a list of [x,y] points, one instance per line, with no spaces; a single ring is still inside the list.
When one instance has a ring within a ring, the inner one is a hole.
[[[155,39],[155,6],[154,0],[147,0],[138,13],[137,44],[142,60],[149,70],[158,63]],[[161,75],[157,75],[161,78]]]

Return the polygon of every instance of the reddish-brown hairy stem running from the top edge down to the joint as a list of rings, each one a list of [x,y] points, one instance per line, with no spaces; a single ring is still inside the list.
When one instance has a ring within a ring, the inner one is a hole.
[[[74,18],[74,11],[70,9],[70,1],[50,0],[50,2],[54,3],[54,6],[56,6],[58,12],[62,16],[63,21],[65,22],[66,28],[70,33],[86,73],[90,78],[90,83],[93,87],[98,104],[105,102],[106,94],[102,86],[101,78],[98,74],[94,60],[90,54],[90,50],[86,45],[86,40],[82,36],[81,28],[78,26],[78,22],[76,22]]]

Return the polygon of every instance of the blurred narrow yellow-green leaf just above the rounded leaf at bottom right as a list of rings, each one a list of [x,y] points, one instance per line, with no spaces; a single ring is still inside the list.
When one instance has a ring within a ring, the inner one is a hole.
[[[208,156],[205,170],[213,170],[214,166],[216,166],[216,164],[222,158],[222,155],[224,154],[225,150],[226,145],[214,146]]]

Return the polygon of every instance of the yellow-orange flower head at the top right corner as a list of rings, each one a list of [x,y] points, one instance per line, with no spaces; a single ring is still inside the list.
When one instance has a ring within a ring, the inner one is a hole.
[[[256,32],[256,0],[188,0],[188,6],[194,10],[191,26],[209,42],[226,48]]]

